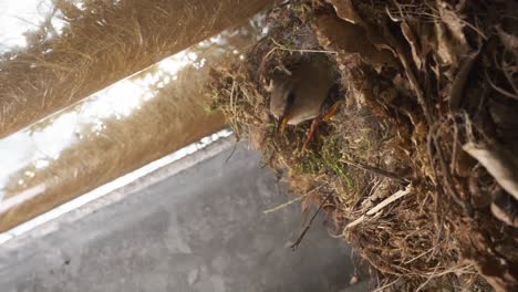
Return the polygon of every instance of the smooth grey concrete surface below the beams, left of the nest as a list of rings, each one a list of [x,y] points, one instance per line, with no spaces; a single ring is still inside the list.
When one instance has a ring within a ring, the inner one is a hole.
[[[0,291],[365,291],[348,289],[350,250],[323,217],[288,248],[299,205],[265,215],[293,197],[257,154],[229,152],[0,246]]]

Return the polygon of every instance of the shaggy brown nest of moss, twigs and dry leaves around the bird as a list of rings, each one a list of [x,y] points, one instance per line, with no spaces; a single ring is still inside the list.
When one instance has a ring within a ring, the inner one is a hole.
[[[516,289],[516,195],[500,182],[518,145],[511,1],[328,2],[272,10],[247,62],[213,70],[213,107],[302,211],[327,211],[382,290]],[[344,102],[303,150],[311,122],[279,134],[266,85],[310,54],[335,64]]]

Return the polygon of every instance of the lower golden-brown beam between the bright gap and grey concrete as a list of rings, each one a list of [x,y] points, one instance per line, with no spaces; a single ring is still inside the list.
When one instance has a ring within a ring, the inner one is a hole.
[[[220,114],[206,113],[188,96],[175,97],[163,94],[127,118],[105,121],[104,131],[85,132],[44,169],[20,169],[0,202],[0,232],[225,127]],[[17,188],[19,179],[27,184]]]

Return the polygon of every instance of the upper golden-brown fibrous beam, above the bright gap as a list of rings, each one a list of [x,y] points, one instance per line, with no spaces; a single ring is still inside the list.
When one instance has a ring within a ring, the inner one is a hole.
[[[46,21],[28,34],[27,49],[0,56],[0,137],[240,25],[272,1],[81,2],[55,0],[51,17],[66,23],[63,31]]]

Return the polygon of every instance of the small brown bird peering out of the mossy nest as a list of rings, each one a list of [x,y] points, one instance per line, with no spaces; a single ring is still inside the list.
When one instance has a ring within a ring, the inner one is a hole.
[[[288,73],[278,72],[270,84],[270,113],[278,119],[278,131],[313,119],[304,143],[305,149],[321,121],[332,117],[339,106],[336,74],[330,60],[317,54],[303,58]]]

